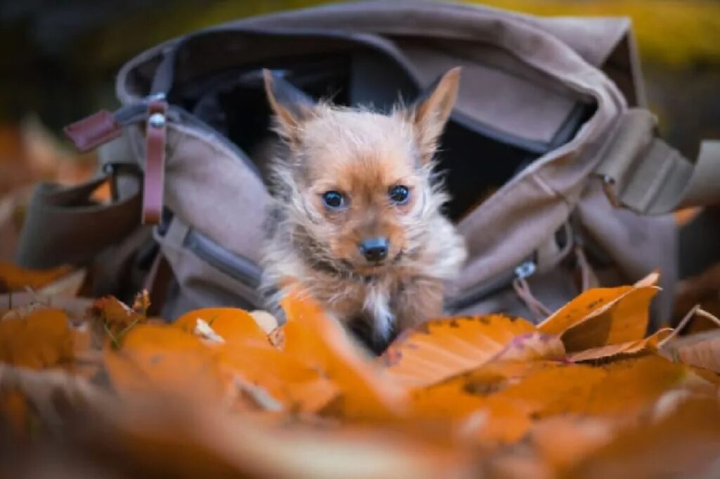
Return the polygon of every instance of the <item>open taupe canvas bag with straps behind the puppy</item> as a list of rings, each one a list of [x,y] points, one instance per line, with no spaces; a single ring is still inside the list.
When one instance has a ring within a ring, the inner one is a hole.
[[[97,178],[37,187],[17,260],[90,265],[93,294],[151,288],[158,314],[263,306],[256,287],[269,136],[261,69],[310,96],[389,108],[463,68],[439,168],[469,257],[447,314],[539,320],[590,286],[677,280],[670,212],[720,193],[720,143],[696,161],[656,136],[631,24],[433,1],[369,1],[241,19],[150,48],[122,106],[67,128],[102,145]],[[89,196],[111,181],[113,201]]]

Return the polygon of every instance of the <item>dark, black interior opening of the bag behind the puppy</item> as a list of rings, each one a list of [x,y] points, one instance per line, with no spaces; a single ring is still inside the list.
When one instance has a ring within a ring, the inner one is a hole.
[[[330,99],[343,106],[372,104],[387,111],[400,97],[408,104],[420,93],[394,60],[346,48],[332,54],[293,55],[246,64],[194,78],[176,86],[170,100],[228,137],[253,159],[254,152],[274,137],[262,68],[275,70],[314,99]],[[594,109],[591,104],[578,103],[548,150],[572,139]],[[451,194],[445,214],[454,221],[544,154],[523,147],[521,142],[497,140],[495,137],[503,134],[487,134],[489,128],[453,114],[444,132],[438,170]]]

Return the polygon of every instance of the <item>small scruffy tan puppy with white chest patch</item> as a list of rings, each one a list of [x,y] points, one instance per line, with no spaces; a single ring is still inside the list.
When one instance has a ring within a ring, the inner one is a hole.
[[[433,158],[459,78],[454,68],[414,106],[380,114],[314,104],[264,71],[283,150],[263,255],[273,305],[299,285],[376,353],[442,314],[466,252]]]

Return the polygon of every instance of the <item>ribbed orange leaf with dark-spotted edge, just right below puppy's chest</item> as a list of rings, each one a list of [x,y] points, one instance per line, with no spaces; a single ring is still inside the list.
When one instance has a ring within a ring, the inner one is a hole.
[[[394,380],[426,386],[477,368],[513,339],[534,332],[529,321],[500,314],[437,319],[403,334],[381,360]]]

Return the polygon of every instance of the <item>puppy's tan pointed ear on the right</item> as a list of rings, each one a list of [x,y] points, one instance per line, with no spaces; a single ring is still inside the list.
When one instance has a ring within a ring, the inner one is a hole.
[[[410,109],[420,160],[428,163],[450,117],[460,86],[460,67],[453,68],[433,83]]]

